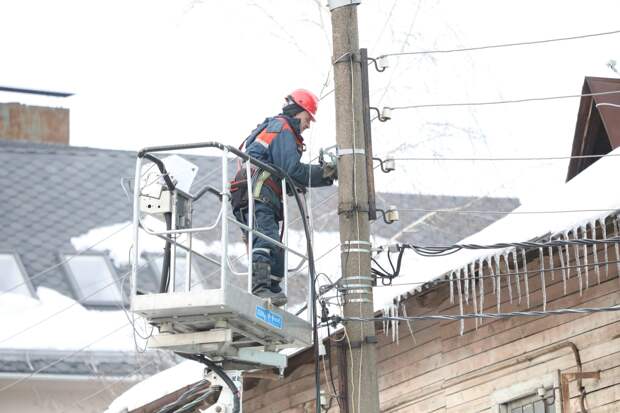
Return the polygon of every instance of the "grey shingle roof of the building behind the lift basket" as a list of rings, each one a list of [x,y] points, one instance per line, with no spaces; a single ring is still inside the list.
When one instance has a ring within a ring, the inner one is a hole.
[[[198,164],[202,176],[220,168],[218,158],[190,157],[190,160]],[[122,190],[120,181],[122,178],[133,179],[135,153],[0,139],[0,162],[3,170],[0,187],[4,195],[3,213],[0,214],[0,252],[11,251],[19,255],[35,288],[45,286],[77,298],[64,267],[59,265],[60,253],[75,252],[70,243],[72,237],[83,235],[94,228],[131,220],[131,201]],[[200,182],[200,179],[201,175],[197,177],[192,192],[206,183]],[[211,179],[211,183],[215,182],[214,186],[219,186],[219,172],[214,172]],[[331,196],[335,191],[336,188],[313,190],[316,230],[336,231],[338,228],[335,213],[337,196]],[[194,217],[194,225],[213,221],[217,213],[217,208],[212,204],[213,199],[206,195],[195,205],[195,210],[200,212]],[[510,211],[519,202],[510,198],[377,194],[377,204],[394,204],[401,209],[464,206],[464,209],[469,210]],[[424,220],[424,224],[407,229],[411,222],[424,215],[425,212],[403,213],[401,221],[393,225],[377,221],[373,225],[373,233],[386,238],[400,234],[408,242],[421,244],[445,244],[478,232],[492,222],[489,217],[469,214],[432,214]],[[495,220],[501,215],[491,217]],[[301,229],[301,226],[297,223],[292,228]],[[438,230],[441,228],[450,228],[450,231]],[[207,238],[205,235],[199,237],[205,241],[215,241],[219,235],[216,232]],[[50,270],[33,278],[47,269]],[[127,270],[126,267],[117,268],[119,274]],[[144,271],[145,277],[141,278],[151,281],[141,288],[156,290],[157,276],[150,269]],[[294,290],[301,297],[303,288]],[[21,355],[8,358],[5,355],[6,351],[0,353],[0,371],[31,371],[31,366],[24,364]],[[44,362],[45,357],[41,356],[41,360]],[[117,366],[110,367],[109,374],[124,374],[124,367],[119,367],[123,365],[122,362],[111,362],[109,365]],[[86,364],[80,362],[71,365],[61,363],[54,371],[90,374],[92,371],[84,366]],[[135,364],[131,364],[130,368],[134,370]]]

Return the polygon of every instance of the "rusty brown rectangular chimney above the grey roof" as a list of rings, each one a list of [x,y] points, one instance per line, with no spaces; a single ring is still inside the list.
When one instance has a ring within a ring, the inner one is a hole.
[[[0,103],[0,139],[69,144],[69,109]]]

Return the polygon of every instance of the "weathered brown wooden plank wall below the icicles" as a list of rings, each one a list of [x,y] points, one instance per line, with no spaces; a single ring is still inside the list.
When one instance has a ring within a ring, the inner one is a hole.
[[[614,235],[609,232],[608,236]],[[560,260],[556,251],[554,267],[557,268]],[[603,262],[604,248],[598,246],[596,253],[599,262]],[[580,247],[580,254],[583,264],[583,247]],[[592,264],[592,248],[588,248],[588,254],[588,263]],[[577,265],[572,248],[570,255],[571,260],[566,265]],[[608,258],[610,261],[620,260],[613,246],[608,248]],[[531,271],[529,289],[532,310],[542,310],[539,264],[537,258],[527,264],[528,271]],[[548,264],[548,257],[545,257],[545,266]],[[601,266],[600,284],[591,268],[590,285],[587,289],[584,286],[581,293],[577,271],[571,269],[570,272],[566,294],[561,271],[555,271],[553,280],[547,273],[547,309],[620,304],[620,278],[615,263],[609,265],[608,277],[605,276],[605,266]],[[585,272],[583,275],[585,279]],[[518,303],[515,278],[511,280],[512,303],[505,278],[502,280],[501,311],[528,310],[525,297],[522,297],[521,304]],[[484,311],[495,312],[497,304],[495,294],[491,292],[491,280],[485,279],[484,282]],[[521,289],[524,292],[523,284]],[[419,294],[414,295],[404,302],[407,314],[458,314],[458,300],[454,304],[449,302],[448,284],[440,284],[435,290],[441,297],[438,305],[425,307],[425,300]],[[465,305],[465,312],[473,312],[471,301]],[[424,320],[412,324],[413,337],[407,323],[400,323],[398,344],[378,331],[382,412],[493,413],[493,394],[498,390],[549,374],[577,372],[575,355],[568,343],[578,349],[584,372],[600,371],[600,380],[583,380],[589,412],[620,411],[620,312],[492,319],[484,320],[477,327],[474,320],[467,320],[463,335],[459,334],[458,322]],[[381,328],[381,323],[377,323],[377,329]],[[332,340],[335,338],[340,338],[340,334]],[[336,345],[332,342],[333,375],[338,389],[341,377],[338,357],[342,354],[336,351]],[[246,390],[244,411],[314,412],[311,351],[294,356],[293,360],[304,357],[304,363],[287,372],[284,379],[275,382],[262,380]],[[331,394],[331,385],[327,386],[325,370],[322,365],[321,368],[322,389]],[[559,392],[557,395],[559,397]],[[569,395],[571,412],[579,411],[579,391],[574,382],[570,384]],[[335,400],[328,411],[340,412]]]

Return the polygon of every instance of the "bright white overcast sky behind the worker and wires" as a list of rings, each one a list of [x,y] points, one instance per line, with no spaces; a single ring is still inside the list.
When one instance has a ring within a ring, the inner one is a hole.
[[[333,88],[325,0],[14,0],[0,4],[0,84],[75,93],[1,101],[71,110],[71,143],[136,150],[219,140],[238,144],[297,87]],[[606,32],[620,2],[364,0],[370,56]],[[620,35],[467,53],[390,58],[370,71],[371,105],[489,101],[581,91],[584,76],[617,77]],[[327,81],[327,83],[326,83]],[[397,111],[373,123],[375,153],[407,156],[568,155],[578,99]],[[333,94],[306,133],[334,143]],[[402,168],[402,166],[405,166]],[[389,191],[534,196],[562,182],[566,162],[401,163],[377,177]],[[539,183],[536,189],[536,183]]]

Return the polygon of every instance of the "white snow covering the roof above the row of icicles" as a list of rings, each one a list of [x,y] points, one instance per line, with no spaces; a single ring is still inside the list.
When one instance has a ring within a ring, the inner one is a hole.
[[[609,182],[620,176],[620,148],[609,155],[602,157],[569,182],[548,188],[544,197],[520,206],[459,244],[489,245],[529,241],[583,228],[586,224],[594,224],[615,214],[620,209],[620,193],[611,187]],[[383,309],[398,297],[415,294],[420,290],[421,284],[414,288],[407,283],[432,282],[449,275],[453,270],[465,268],[480,259],[502,252],[506,251],[461,250],[444,257],[421,257],[413,252],[406,252],[402,264],[405,270],[394,281],[394,286],[375,288],[375,308]]]

